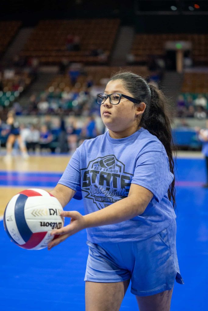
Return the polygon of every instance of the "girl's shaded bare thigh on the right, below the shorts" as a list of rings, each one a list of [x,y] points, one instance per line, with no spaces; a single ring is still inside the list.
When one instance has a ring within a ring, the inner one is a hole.
[[[165,290],[162,293],[151,296],[136,296],[139,311],[170,311],[173,290]]]

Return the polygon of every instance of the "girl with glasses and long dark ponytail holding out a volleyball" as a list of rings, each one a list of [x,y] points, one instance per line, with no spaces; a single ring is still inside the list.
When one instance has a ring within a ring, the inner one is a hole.
[[[140,311],[170,310],[176,252],[171,128],[161,91],[131,72],[115,74],[97,95],[109,129],[85,140],[51,192],[65,206],[84,199],[85,216],[51,234],[48,249],[87,229],[86,310],[119,310],[131,280]],[[172,205],[173,203],[173,205]]]

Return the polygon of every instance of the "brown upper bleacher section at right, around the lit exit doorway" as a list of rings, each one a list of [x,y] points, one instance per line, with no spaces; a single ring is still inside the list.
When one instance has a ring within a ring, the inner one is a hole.
[[[208,34],[137,34],[131,53],[136,62],[147,62],[148,55],[165,55],[166,41],[190,41],[195,64],[208,64]]]

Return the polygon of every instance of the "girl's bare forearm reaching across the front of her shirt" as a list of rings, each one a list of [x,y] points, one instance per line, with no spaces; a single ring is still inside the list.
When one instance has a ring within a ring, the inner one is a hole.
[[[131,219],[144,212],[147,203],[142,199],[126,197],[102,210],[84,216],[85,228],[110,225]]]

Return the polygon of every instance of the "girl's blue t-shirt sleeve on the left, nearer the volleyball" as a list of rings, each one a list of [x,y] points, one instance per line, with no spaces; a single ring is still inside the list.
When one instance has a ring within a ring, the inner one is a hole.
[[[76,191],[74,195],[75,199],[77,200],[82,199],[81,183],[80,183],[80,153],[78,149],[71,157],[58,183],[75,190]]]

